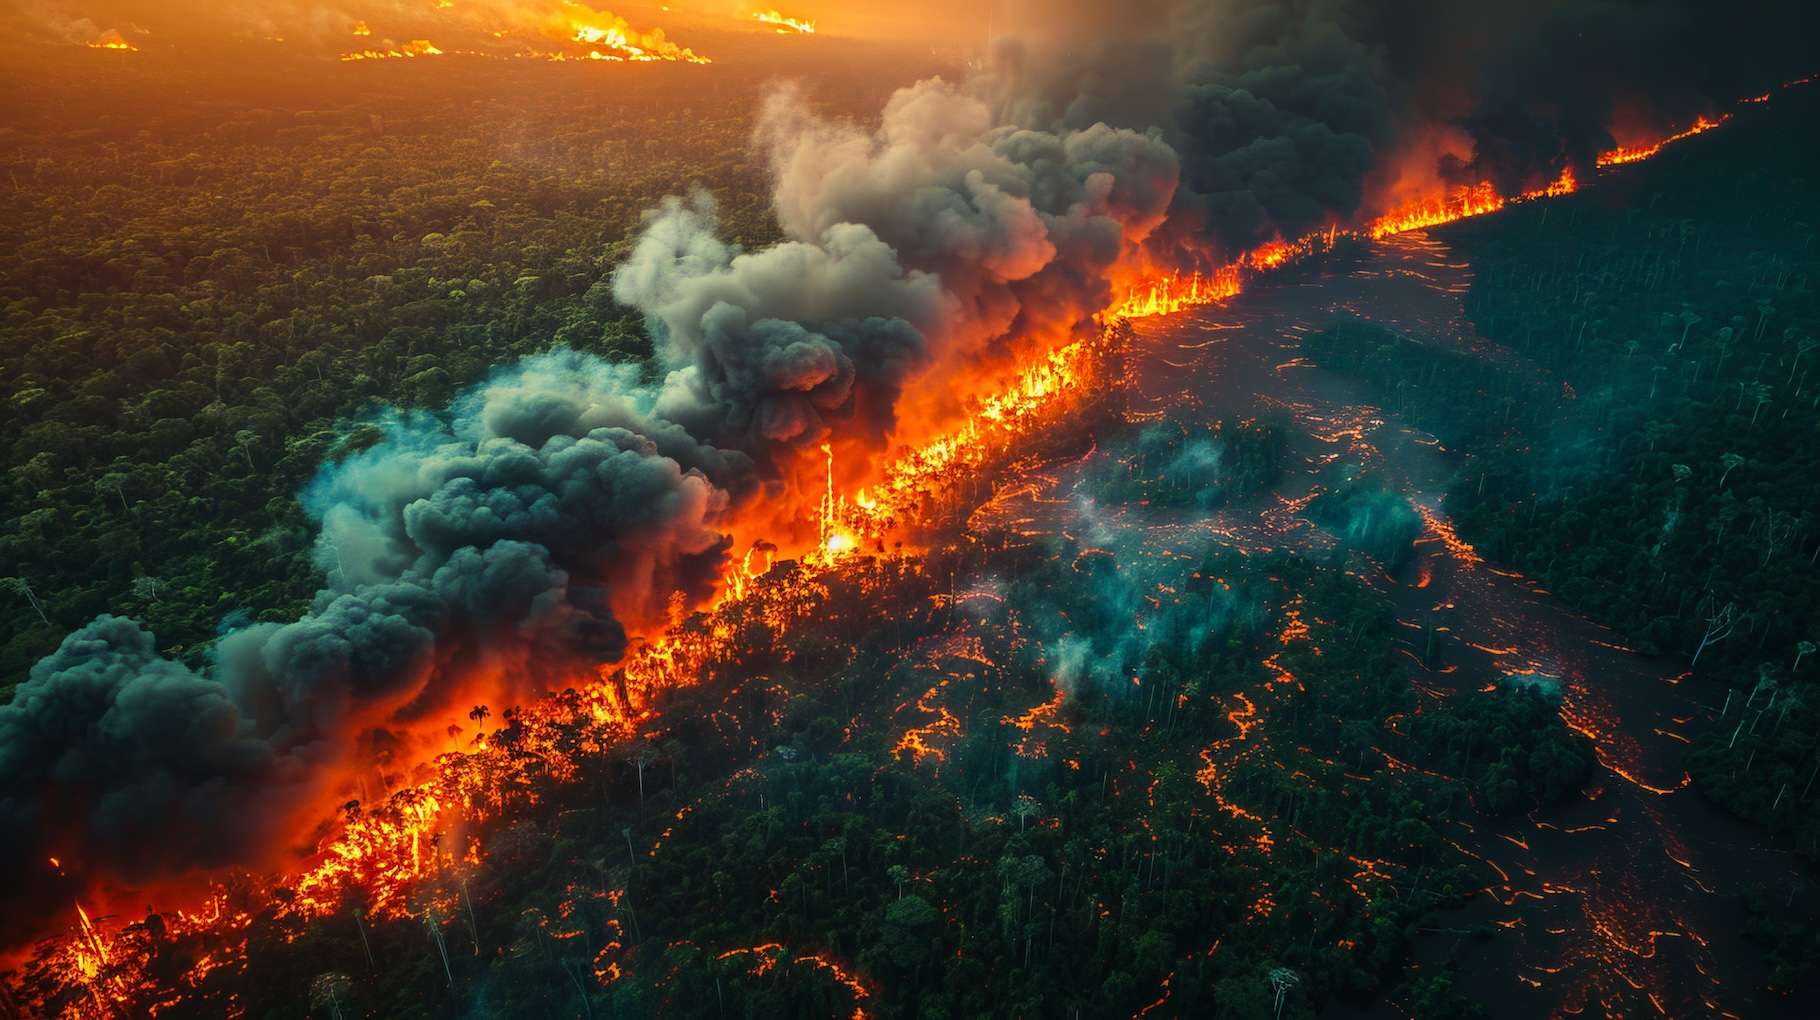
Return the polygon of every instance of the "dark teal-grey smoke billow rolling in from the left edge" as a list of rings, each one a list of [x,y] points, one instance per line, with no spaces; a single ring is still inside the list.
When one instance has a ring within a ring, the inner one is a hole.
[[[295,623],[226,636],[207,674],[126,619],[71,634],[0,707],[0,867],[244,862],[320,807],[371,734],[617,659],[624,619],[706,590],[752,475],[655,399],[633,366],[553,352],[475,388],[450,424],[391,417],[304,494],[329,586]]]

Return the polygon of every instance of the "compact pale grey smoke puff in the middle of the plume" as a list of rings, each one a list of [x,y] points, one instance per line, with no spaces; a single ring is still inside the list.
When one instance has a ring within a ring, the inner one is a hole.
[[[619,301],[661,333],[659,412],[761,455],[819,444],[835,424],[883,443],[905,377],[946,319],[941,280],[906,271],[855,222],[757,253],[737,253],[715,228],[708,195],[672,199],[613,277]]]

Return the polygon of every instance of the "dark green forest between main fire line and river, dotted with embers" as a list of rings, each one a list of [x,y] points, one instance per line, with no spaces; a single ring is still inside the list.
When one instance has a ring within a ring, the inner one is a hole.
[[[417,916],[268,916],[246,976],[222,971],[187,1005],[235,991],[253,1015],[284,1013],[333,985],[349,1015],[386,1016],[477,1002],[1103,1016],[1159,1000],[1258,1016],[1278,974],[1292,982],[1283,1016],[1380,996],[1472,1015],[1445,960],[1409,954],[1418,927],[1485,882],[1445,821],[1554,796],[1562,770],[1531,761],[1562,749],[1583,765],[1580,738],[1532,694],[1416,714],[1381,596],[1330,566],[1232,552],[1178,566],[1172,612],[1228,607],[1218,627],[1159,641],[1141,683],[1081,679],[1057,701],[1026,634],[1143,583],[1141,561],[1101,550],[1083,570],[1077,545],[1001,539],[976,566],[1019,570],[1003,603],[932,597],[943,556],[843,572],[788,643],[748,627],[739,659],[679,690],[661,730],[581,756],[577,781],[539,783],[482,834],[488,867],[446,872]],[[1285,643],[1290,612],[1312,623]],[[1261,665],[1272,652],[1294,683]],[[957,732],[906,741],[937,707]],[[1383,725],[1398,718],[1425,721]],[[511,747],[513,732],[502,712],[493,740]],[[1516,747],[1538,750],[1503,780]],[[1434,774],[1454,761],[1485,778]],[[160,958],[180,971],[200,949]]]

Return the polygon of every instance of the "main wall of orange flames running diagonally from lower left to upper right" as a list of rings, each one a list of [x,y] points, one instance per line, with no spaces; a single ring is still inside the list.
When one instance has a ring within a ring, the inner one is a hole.
[[[602,46],[615,46],[621,40],[610,29],[586,35]],[[422,46],[426,49],[420,53],[433,51],[428,44]],[[1563,195],[1572,191],[1572,177],[1563,175],[1549,188],[1516,200]],[[817,581],[823,572],[844,570],[857,550],[934,523],[926,514],[932,505],[939,505],[941,492],[1016,446],[1021,437],[1056,421],[1079,395],[1112,384],[1101,375],[1108,353],[1123,342],[1125,326],[1119,324],[1123,319],[1165,315],[1194,304],[1227,301],[1239,293],[1247,273],[1269,271],[1305,253],[1325,250],[1341,235],[1383,237],[1480,215],[1505,204],[1507,200],[1494,191],[1471,189],[1445,202],[1392,213],[1363,231],[1329,230],[1298,242],[1274,242],[1212,275],[1167,275],[1147,288],[1128,288],[1105,313],[1108,326],[1099,337],[1063,344],[1032,361],[1001,392],[979,401],[957,428],[905,450],[879,472],[875,483],[855,492],[852,499],[835,490],[834,454],[823,448],[824,492],[815,508],[815,545],[806,550],[801,568],[774,570],[777,548],[770,543],[752,543],[752,550],[763,550],[761,563],[753,565],[753,554],[748,552],[737,568],[728,572],[719,603],[704,617],[679,621],[661,638],[639,645],[622,665],[602,668],[599,678],[513,712],[506,727],[473,749],[437,758],[428,780],[399,789],[373,807],[349,805],[337,832],[320,845],[306,871],[275,883],[242,889],[238,894],[244,903],[238,909],[224,907],[228,892],[215,889],[209,892],[215,907],[206,916],[180,913],[175,914],[175,922],[164,920],[157,934],[151,925],[135,923],[115,938],[102,934],[86,913],[78,913],[78,925],[47,944],[33,965],[33,973],[49,993],[42,1005],[49,1013],[102,1016],[116,1011],[118,1004],[180,996],[184,987],[147,987],[146,964],[151,958],[151,942],[171,938],[175,933],[206,933],[211,942],[222,944],[222,949],[209,956],[207,967],[233,965],[244,958],[244,934],[233,933],[244,931],[249,923],[253,913],[249,907],[266,903],[269,909],[277,889],[289,889],[278,914],[298,922],[342,913],[349,902],[364,903],[371,918],[411,918],[426,909],[422,905],[426,892],[431,902],[442,903],[444,916],[453,914],[450,894],[430,891],[448,876],[482,863],[480,843],[473,836],[479,825],[504,816],[515,805],[533,803],[539,780],[573,778],[581,770],[582,758],[604,754],[633,740],[641,727],[655,719],[653,705],[659,694],[697,683],[706,661],[735,648],[739,621],[763,619],[774,630],[788,630],[824,597],[826,588]],[[1443,530],[1438,517],[1423,515],[1429,519],[1431,534],[1440,534],[1451,550],[1460,554],[1467,548]],[[1301,630],[1290,625],[1283,639],[1299,634]],[[1283,678],[1287,670],[1276,676]],[[935,690],[917,707],[937,716],[935,723],[925,727],[926,732],[906,734],[906,743],[901,747],[914,758],[943,758],[928,738],[952,736],[957,730],[952,716],[934,703],[932,694]],[[1243,710],[1230,712],[1236,734],[1216,747],[1243,743],[1256,725],[1256,709],[1243,694],[1234,698],[1243,705]],[[1021,730],[1030,730],[1039,721],[1059,727],[1059,721],[1050,718],[1057,707],[1059,696],[1006,721]],[[1023,750],[1036,752],[1030,747]],[[1208,752],[1203,752],[1203,760],[1205,769],[1198,778],[1216,801],[1236,818],[1256,820],[1252,812],[1223,796],[1221,780],[1227,772],[1216,769]],[[71,989],[89,989],[95,994],[73,998]]]

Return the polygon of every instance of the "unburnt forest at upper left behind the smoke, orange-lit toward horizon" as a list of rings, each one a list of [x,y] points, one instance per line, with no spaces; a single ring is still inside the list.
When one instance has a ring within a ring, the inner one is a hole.
[[[648,357],[608,273],[664,193],[775,235],[763,69],[682,109],[672,69],[575,71],[5,73],[60,98],[0,115],[0,696],[102,612],[191,661],[229,616],[297,617],[320,577],[293,494],[369,410],[553,344]],[[826,91],[868,109],[864,82]]]

